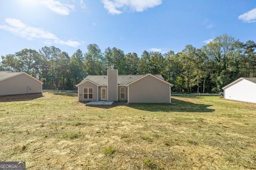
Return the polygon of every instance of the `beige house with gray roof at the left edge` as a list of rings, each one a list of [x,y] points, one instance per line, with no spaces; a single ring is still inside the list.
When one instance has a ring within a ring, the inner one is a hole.
[[[0,96],[42,94],[42,84],[25,72],[0,72]]]

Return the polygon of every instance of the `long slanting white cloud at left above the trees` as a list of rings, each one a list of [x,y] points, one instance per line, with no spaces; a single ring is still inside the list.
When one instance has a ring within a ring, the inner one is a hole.
[[[26,39],[43,39],[45,44],[61,44],[70,47],[77,47],[81,45],[78,41],[68,40],[63,41],[49,31],[42,28],[29,27],[18,19],[6,18],[7,25],[0,25],[0,29],[14,33],[14,35]]]

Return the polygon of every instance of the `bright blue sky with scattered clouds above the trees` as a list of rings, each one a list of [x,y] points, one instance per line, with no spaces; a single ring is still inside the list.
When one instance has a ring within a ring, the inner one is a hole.
[[[255,0],[0,0],[0,55],[54,45],[72,55],[102,51],[180,52],[227,33],[256,41]]]

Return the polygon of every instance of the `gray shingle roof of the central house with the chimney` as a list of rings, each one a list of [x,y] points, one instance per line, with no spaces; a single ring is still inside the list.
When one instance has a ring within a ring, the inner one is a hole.
[[[118,75],[118,85],[125,85],[125,84],[130,83],[134,80],[137,80],[143,76],[144,76],[143,74],[140,74],[140,75]],[[164,80],[162,75],[155,75],[155,76]],[[100,86],[107,86],[108,76],[107,75],[88,75],[83,81],[85,81],[85,80],[91,80],[94,83],[99,84]],[[83,81],[81,81],[81,83]]]

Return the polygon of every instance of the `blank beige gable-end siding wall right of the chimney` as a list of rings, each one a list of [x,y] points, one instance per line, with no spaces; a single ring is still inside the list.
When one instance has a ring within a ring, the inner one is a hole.
[[[129,103],[170,103],[170,85],[150,75],[129,85]]]

